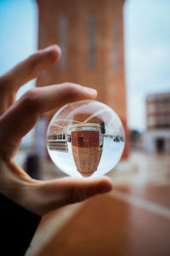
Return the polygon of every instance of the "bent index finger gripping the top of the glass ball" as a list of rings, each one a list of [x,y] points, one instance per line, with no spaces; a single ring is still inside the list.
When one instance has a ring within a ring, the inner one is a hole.
[[[42,113],[67,102],[94,99],[96,95],[96,90],[70,83],[28,90],[0,119],[1,154],[10,157]]]

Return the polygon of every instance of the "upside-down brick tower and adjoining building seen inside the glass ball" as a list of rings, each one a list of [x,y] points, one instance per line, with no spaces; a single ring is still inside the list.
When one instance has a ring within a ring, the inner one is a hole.
[[[52,129],[53,130],[53,129]],[[48,136],[48,148],[54,151],[69,152],[71,150],[77,171],[83,177],[91,176],[99,166],[102,155],[105,125],[104,123],[87,125],[71,125],[63,129],[69,134],[55,134]]]

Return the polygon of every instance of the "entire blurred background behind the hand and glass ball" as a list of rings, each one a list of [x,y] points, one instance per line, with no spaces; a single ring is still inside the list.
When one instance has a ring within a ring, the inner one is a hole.
[[[170,1],[0,0],[0,74],[50,44],[62,57],[20,88],[71,81],[99,90],[127,143],[115,189],[42,219],[26,255],[170,255]],[[42,116],[15,160],[36,178],[48,159]]]

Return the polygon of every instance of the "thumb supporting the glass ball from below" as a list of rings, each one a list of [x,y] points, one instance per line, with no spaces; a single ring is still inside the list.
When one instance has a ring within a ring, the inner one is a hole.
[[[64,177],[34,184],[37,189],[36,213],[43,215],[59,207],[84,201],[93,195],[110,192],[113,184],[109,177],[95,180],[79,180]],[[35,212],[35,208],[32,209]]]

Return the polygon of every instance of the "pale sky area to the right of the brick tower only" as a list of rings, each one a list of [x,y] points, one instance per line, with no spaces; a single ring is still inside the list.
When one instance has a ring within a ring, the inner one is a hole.
[[[145,128],[145,97],[170,91],[170,1],[127,0],[124,7],[127,119]]]

